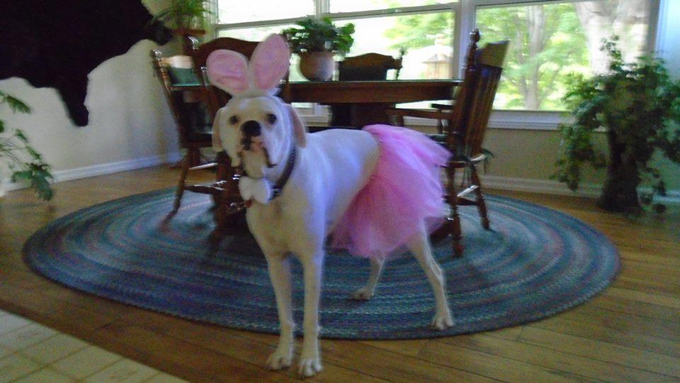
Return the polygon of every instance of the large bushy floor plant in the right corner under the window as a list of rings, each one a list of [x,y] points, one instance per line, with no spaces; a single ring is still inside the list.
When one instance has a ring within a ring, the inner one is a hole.
[[[607,168],[597,204],[608,211],[636,213],[651,204],[666,187],[659,170],[650,164],[661,152],[680,162],[680,82],[669,78],[664,62],[640,57],[623,62],[616,38],[605,41],[611,59],[609,72],[589,79],[575,76],[564,99],[574,122],[561,126],[562,144],[555,177],[575,190],[584,164]],[[604,129],[608,155],[596,148],[596,131]],[[651,191],[638,194],[642,182]],[[655,204],[661,212],[665,207]]]

